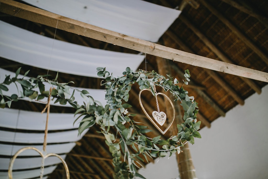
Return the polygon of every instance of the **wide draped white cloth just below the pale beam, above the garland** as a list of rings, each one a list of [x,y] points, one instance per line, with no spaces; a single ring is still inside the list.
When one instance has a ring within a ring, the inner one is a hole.
[[[0,21],[0,56],[38,68],[67,74],[97,75],[107,67],[113,76],[122,76],[126,67],[137,70],[144,55],[112,52],[54,40]]]

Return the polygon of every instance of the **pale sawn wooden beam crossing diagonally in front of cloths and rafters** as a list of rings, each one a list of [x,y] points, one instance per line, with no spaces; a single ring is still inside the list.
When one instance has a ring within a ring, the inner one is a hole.
[[[156,43],[137,39],[131,36],[120,34],[118,32],[113,32],[100,27],[96,27],[94,25],[60,16],[58,14],[54,14],[42,9],[34,8],[32,6],[28,6],[19,2],[11,0],[0,0],[0,2],[0,11],[12,16],[48,25],[50,27],[57,27],[61,30],[87,36],[154,56],[163,57],[165,59],[268,82],[268,73],[266,72],[240,67],[238,65],[233,65],[207,57],[202,57],[180,50],[168,48]]]

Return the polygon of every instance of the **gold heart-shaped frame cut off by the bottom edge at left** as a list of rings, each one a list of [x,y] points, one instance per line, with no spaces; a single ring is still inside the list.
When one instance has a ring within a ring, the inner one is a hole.
[[[61,158],[61,156],[59,156],[58,154],[54,154],[54,153],[49,153],[49,154],[44,155],[44,154],[42,154],[42,152],[41,152],[38,148],[35,148],[35,147],[23,147],[23,148],[19,149],[19,150],[16,152],[16,154],[12,157],[12,159],[10,160],[10,163],[9,163],[9,167],[8,167],[8,177],[9,177],[10,179],[13,178],[13,176],[12,176],[12,169],[13,169],[13,164],[14,164],[15,159],[17,158],[17,156],[18,156],[21,152],[23,152],[23,151],[25,151],[25,150],[29,150],[29,149],[32,149],[32,150],[37,151],[37,152],[40,154],[40,156],[42,156],[43,160],[46,159],[46,158],[48,158],[49,156],[55,156],[55,157],[58,157],[58,158],[61,160],[61,162],[62,162],[62,164],[63,164],[63,166],[64,166],[64,168],[65,168],[65,171],[66,171],[66,178],[67,178],[67,179],[70,179],[70,174],[69,174],[68,166],[67,166],[66,162],[64,161],[64,159]]]

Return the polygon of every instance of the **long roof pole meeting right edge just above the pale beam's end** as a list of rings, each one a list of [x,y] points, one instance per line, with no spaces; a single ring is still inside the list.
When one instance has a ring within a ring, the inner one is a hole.
[[[201,1],[203,5],[211,11],[211,13],[215,14],[227,27],[232,30],[249,48],[251,48],[265,63],[268,65],[268,57],[260,48],[258,48],[251,39],[247,38],[240,30],[231,23],[228,19],[224,17],[217,9],[211,6],[207,1]]]

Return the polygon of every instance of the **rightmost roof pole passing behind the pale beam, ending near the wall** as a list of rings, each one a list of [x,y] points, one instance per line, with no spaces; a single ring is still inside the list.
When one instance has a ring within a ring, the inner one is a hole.
[[[211,42],[198,28],[196,28],[186,17],[181,15],[180,20],[183,21],[183,23],[187,24],[187,26],[195,32],[195,34],[221,59],[222,61],[233,64],[233,61],[229,59],[221,50],[219,50],[213,42]],[[228,67],[227,67],[228,68]],[[235,70],[235,69],[233,69]],[[240,77],[245,83],[247,83],[252,89],[254,89],[258,94],[262,92],[260,87],[256,85],[252,80],[244,80],[244,78]]]

